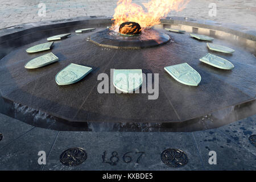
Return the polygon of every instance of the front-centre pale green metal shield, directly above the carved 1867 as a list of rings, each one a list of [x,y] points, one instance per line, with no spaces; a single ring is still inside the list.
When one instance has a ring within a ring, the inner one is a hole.
[[[122,92],[129,93],[142,85],[141,69],[114,69],[113,84]]]

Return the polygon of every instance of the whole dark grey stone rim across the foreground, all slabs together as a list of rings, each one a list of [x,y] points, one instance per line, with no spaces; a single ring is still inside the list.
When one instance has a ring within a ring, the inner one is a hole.
[[[26,125],[25,123],[0,114],[1,132],[5,133],[5,138],[0,142],[0,169],[255,170],[255,147],[248,139],[256,133],[255,117],[256,115],[218,129],[192,133],[57,132],[40,128],[21,133],[20,128],[15,126]],[[21,128],[26,129],[24,126]],[[236,130],[238,135],[232,138],[231,134]],[[15,137],[10,135],[11,132],[16,134]],[[5,141],[8,143],[2,144]],[[84,150],[78,150],[77,147]],[[76,148],[75,151],[72,148]],[[177,150],[170,150],[172,148],[183,152],[177,154]],[[42,157],[38,155],[39,151],[46,152],[45,165],[38,163],[38,159]],[[217,164],[209,164],[210,151],[216,152]],[[68,166],[61,163],[61,159]],[[179,167],[173,164],[178,164]]]

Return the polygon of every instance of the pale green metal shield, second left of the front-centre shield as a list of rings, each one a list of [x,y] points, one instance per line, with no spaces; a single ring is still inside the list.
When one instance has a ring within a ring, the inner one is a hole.
[[[47,53],[46,55],[39,56],[28,61],[28,63],[25,65],[25,68],[27,69],[40,68],[40,67],[44,67],[45,65],[54,63],[58,60],[59,58],[55,56],[52,52],[50,52],[50,53]]]

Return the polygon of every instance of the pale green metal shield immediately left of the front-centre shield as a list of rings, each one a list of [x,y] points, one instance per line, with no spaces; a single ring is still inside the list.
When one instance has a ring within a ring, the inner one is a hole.
[[[92,68],[85,67],[79,64],[69,64],[67,67],[57,73],[55,81],[58,85],[69,85],[80,81],[88,73],[92,71]]]

